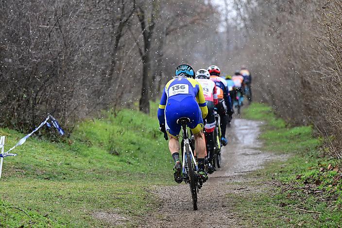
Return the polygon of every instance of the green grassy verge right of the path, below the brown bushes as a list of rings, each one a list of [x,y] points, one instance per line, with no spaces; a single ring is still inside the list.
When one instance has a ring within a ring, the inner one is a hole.
[[[336,161],[325,157],[309,126],[289,127],[271,108],[253,103],[244,117],[262,121],[264,150],[285,154],[255,173],[264,191],[233,197],[241,225],[339,227],[342,223],[342,178]],[[252,201],[250,199],[253,199]]]

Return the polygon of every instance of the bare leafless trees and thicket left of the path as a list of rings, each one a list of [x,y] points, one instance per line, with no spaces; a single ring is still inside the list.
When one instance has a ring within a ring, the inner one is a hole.
[[[0,125],[26,131],[53,113],[72,129],[94,111],[133,107],[137,99],[148,113],[150,94],[155,97],[150,91],[158,91],[180,61],[197,61],[193,53],[205,49],[193,41],[211,29],[215,11],[208,5],[1,1]]]

